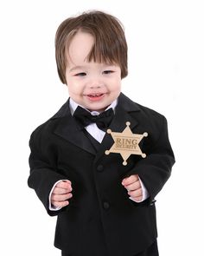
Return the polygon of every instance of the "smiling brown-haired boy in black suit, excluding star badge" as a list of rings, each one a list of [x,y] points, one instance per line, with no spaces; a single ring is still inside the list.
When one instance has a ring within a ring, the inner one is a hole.
[[[174,154],[163,115],[121,93],[127,45],[118,20],[99,11],[61,23],[56,62],[70,98],[30,138],[29,187],[58,215],[54,246],[68,256],[156,256],[155,196],[168,180]],[[148,133],[123,165],[105,154],[112,136],[131,122]]]

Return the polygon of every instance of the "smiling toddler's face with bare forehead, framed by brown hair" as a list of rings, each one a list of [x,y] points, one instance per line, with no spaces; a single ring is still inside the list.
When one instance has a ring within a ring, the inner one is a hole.
[[[121,69],[118,65],[87,62],[92,44],[89,33],[79,31],[73,36],[67,54],[67,88],[74,102],[101,112],[120,94]]]

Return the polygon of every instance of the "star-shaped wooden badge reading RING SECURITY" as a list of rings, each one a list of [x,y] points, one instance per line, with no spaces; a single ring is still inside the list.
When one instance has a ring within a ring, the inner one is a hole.
[[[144,154],[139,148],[139,142],[142,141],[143,137],[147,137],[148,133],[145,132],[143,133],[143,135],[132,134],[130,125],[131,122],[127,121],[126,128],[124,128],[124,131],[122,133],[112,132],[111,129],[107,130],[107,133],[112,135],[114,144],[112,145],[112,148],[110,148],[109,150],[105,150],[105,154],[121,154],[124,160],[124,166],[127,165],[126,160],[130,157],[131,154],[139,154],[143,158],[146,157],[146,154]]]

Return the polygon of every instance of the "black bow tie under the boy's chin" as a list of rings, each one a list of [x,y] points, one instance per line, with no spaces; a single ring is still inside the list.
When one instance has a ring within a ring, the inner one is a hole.
[[[100,113],[99,115],[91,115],[85,108],[81,108],[78,106],[73,113],[75,119],[80,122],[83,127],[95,122],[99,129],[108,128],[112,118],[113,118],[113,110],[109,108],[105,112]]]

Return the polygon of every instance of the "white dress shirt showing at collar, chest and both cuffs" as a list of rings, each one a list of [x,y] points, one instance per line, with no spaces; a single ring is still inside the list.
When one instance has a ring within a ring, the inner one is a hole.
[[[109,108],[112,108],[113,111],[115,111],[115,108],[116,108],[116,106],[117,106],[117,103],[118,103],[118,100],[115,100],[115,101],[112,102],[112,104],[111,104],[110,106],[108,106],[108,108],[106,108],[105,110],[108,110]],[[80,106],[80,105],[77,104],[76,102],[74,102],[73,99],[70,98],[69,107],[70,107],[70,112],[71,112],[72,115],[73,115],[74,111],[76,110],[76,108],[77,108],[78,106]],[[81,107],[81,108],[84,108],[83,106],[80,106],[80,107]],[[86,109],[86,110],[87,110],[87,109]],[[87,110],[87,111],[89,111],[89,110]],[[89,111],[89,112],[91,113],[91,115],[99,115],[99,112],[98,112],[98,111],[92,111],[92,112]],[[89,125],[86,126],[85,128],[86,128],[86,131],[87,131],[90,135],[92,135],[92,137],[93,137],[94,139],[96,139],[96,140],[99,141],[100,143],[103,141],[104,136],[105,136],[105,132],[102,131],[102,130],[100,130],[100,129],[98,128],[98,126],[96,125],[95,122],[89,124]],[[66,181],[66,180],[61,180],[61,181]],[[59,182],[61,182],[61,181],[57,181],[57,182],[54,184],[54,187],[55,187]],[[140,178],[139,178],[139,181],[140,181],[140,183],[141,183],[141,187],[142,187],[142,191],[143,191],[143,198],[142,198],[142,200],[139,200],[139,201],[134,200],[134,201],[136,201],[137,203],[142,202],[143,200],[146,200],[146,199],[149,197],[149,193],[148,193],[146,187],[144,187],[143,181],[141,181]],[[121,185],[121,186],[122,186],[122,185]],[[53,193],[54,187],[51,189],[50,194],[49,194],[49,209],[50,209],[51,211],[57,211],[57,210],[60,210],[60,209],[61,209],[61,207],[53,207],[53,206],[51,205],[51,194]],[[133,200],[131,197],[129,197],[129,198],[130,198],[131,200]]]

